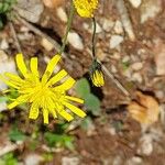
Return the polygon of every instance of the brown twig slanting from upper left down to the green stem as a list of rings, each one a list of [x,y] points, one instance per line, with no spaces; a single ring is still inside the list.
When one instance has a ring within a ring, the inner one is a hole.
[[[23,23],[26,28],[29,28],[31,31],[33,31],[35,34],[46,38],[50,43],[52,43],[55,47],[55,50],[57,52],[61,52],[61,45],[53,40],[51,36],[48,36],[47,34],[43,33],[41,30],[38,30],[37,28],[35,28],[33,24],[29,23],[26,20],[22,19],[18,13],[14,13],[15,18],[18,19],[18,21],[20,21],[21,23]],[[66,57],[66,53],[62,53],[62,55],[64,57]]]

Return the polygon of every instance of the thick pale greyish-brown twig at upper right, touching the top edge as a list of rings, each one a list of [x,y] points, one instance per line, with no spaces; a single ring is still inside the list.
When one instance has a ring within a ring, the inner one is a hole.
[[[135,35],[134,35],[132,23],[131,23],[131,20],[129,18],[129,13],[128,13],[128,10],[125,8],[123,0],[117,0],[117,9],[120,13],[121,22],[123,24],[124,31],[128,33],[130,40],[134,41]]]

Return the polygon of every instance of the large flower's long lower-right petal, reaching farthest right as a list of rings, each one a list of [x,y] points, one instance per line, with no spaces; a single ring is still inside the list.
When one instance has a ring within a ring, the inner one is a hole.
[[[66,106],[68,109],[70,109],[70,111],[73,111],[78,117],[80,117],[80,118],[86,117],[86,113],[81,109],[77,108],[76,106],[70,105],[68,102],[63,102],[63,105]]]

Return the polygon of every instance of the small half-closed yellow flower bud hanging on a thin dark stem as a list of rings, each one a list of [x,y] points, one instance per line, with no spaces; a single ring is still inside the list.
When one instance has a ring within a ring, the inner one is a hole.
[[[101,65],[100,63],[97,62],[97,59],[95,59],[92,63],[90,78],[91,78],[92,84],[96,87],[102,87],[105,85],[105,78],[103,78]]]

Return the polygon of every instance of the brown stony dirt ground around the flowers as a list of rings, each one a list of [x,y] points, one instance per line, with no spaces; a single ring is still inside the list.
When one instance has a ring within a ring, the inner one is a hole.
[[[125,0],[124,4],[135,38],[131,41],[125,32],[117,2],[114,0],[101,1],[99,9],[96,11],[98,23],[97,56],[129,91],[131,99],[135,97],[136,90],[141,90],[150,94],[158,101],[162,108],[158,121],[145,128],[133,120],[127,111],[128,97],[105,74],[106,85],[103,87],[98,89],[91,85],[92,94],[101,100],[100,116],[95,117],[87,112],[88,117],[91,118],[91,125],[84,130],[78,124],[67,132],[75,138],[74,151],[63,148],[52,152],[47,151],[48,147],[43,147],[43,144],[46,145],[43,134],[45,131],[55,130],[56,121],[50,119],[51,123],[43,125],[41,119],[36,122],[28,120],[24,114],[28,112],[21,109],[1,112],[3,116],[0,121],[1,146],[9,142],[9,130],[15,123],[19,125],[19,130],[29,136],[22,144],[18,144],[19,146],[13,152],[22,164],[24,164],[28,155],[33,153],[38,155],[51,153],[53,155],[51,161],[38,164],[165,165],[165,1],[144,0],[139,8],[133,8],[129,0]],[[141,23],[144,8],[152,11],[154,7],[157,13]],[[55,9],[44,8],[40,21],[33,23],[33,25],[62,44],[66,22],[57,14],[59,8],[68,14],[69,2],[64,1]],[[47,51],[41,42],[43,37],[35,34],[29,26],[25,28],[21,21],[14,21],[13,25],[24,56],[26,59],[37,56],[40,69],[43,73],[46,66],[45,59],[52,57],[57,50]],[[67,56],[63,58],[62,67],[75,79],[82,77],[88,79],[91,65],[89,53],[91,47],[91,20],[76,14],[72,32],[80,36],[84,48],[76,48],[72,43],[68,43],[65,50]],[[114,35],[121,36],[121,42],[113,47],[110,42]],[[14,57],[18,48],[9,23],[0,32],[0,40],[2,38],[6,38],[9,44],[4,52],[8,56]],[[36,127],[38,127],[40,136],[37,146],[32,151],[29,145]]]

